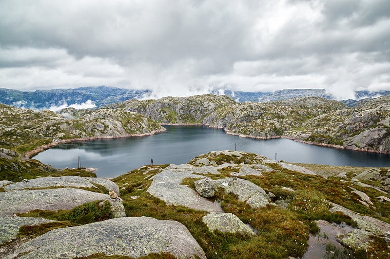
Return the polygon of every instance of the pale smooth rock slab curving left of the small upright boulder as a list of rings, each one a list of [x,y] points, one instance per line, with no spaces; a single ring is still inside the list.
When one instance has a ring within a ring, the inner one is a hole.
[[[191,173],[194,169],[194,166],[187,164],[171,165],[154,176],[147,191],[168,205],[181,205],[208,212],[223,212],[212,201],[201,197],[188,186],[180,184],[184,178],[203,178],[202,175]]]

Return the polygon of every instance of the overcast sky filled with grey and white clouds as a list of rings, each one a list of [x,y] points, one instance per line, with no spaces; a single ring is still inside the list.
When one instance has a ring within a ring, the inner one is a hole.
[[[390,90],[390,0],[0,0],[0,87]]]

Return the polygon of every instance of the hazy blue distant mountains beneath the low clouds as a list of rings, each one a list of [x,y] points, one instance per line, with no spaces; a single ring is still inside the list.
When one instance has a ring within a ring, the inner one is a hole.
[[[96,107],[121,103],[131,99],[145,99],[152,95],[152,90],[132,90],[112,86],[88,86],[74,89],[52,89],[36,91],[19,91],[0,88],[0,103],[18,108],[49,109],[71,104],[86,104],[90,102]],[[334,100],[326,89],[284,89],[275,92],[244,92],[233,90],[212,90],[210,94],[228,95],[235,102],[269,102],[282,101],[296,97],[321,97]],[[344,100],[342,103],[354,107],[359,100],[372,99],[389,95],[390,91],[356,91],[356,100]],[[89,101],[90,100],[90,101]],[[82,106],[82,105],[81,105]]]

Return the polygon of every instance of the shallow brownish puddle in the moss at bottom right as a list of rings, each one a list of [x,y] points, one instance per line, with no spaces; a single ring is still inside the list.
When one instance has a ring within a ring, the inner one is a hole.
[[[346,233],[353,227],[342,224],[326,224],[324,221],[318,223],[320,232],[310,235],[309,246],[302,259],[352,259],[353,256],[348,248],[336,241],[337,233]]]

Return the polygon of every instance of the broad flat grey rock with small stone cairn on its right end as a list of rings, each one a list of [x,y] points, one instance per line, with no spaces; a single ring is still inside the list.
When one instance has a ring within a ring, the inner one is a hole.
[[[122,209],[123,205],[120,198],[113,200],[108,194],[75,188],[0,192],[0,216],[12,216],[33,209],[56,211],[72,209],[81,204],[97,200],[108,200],[110,203],[114,203],[115,206],[113,206],[120,210],[116,212],[116,215],[124,216],[124,208]]]

